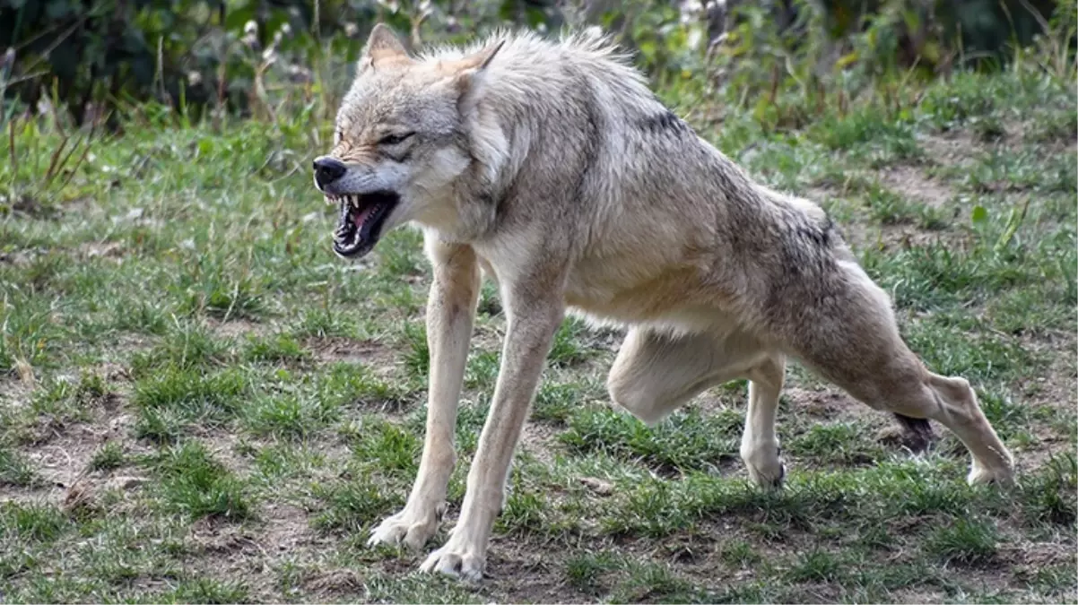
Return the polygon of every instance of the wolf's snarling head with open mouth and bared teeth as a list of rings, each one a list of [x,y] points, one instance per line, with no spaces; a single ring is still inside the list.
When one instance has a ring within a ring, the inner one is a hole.
[[[315,186],[340,205],[333,250],[359,257],[389,229],[452,220],[454,181],[472,161],[462,99],[498,52],[412,58],[378,24],[337,113],[333,150],[315,158]]]

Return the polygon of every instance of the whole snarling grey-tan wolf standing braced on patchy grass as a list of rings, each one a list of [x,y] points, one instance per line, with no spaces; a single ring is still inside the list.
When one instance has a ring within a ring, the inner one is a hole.
[[[333,250],[371,252],[421,229],[432,268],[430,374],[419,469],[370,545],[421,549],[445,510],[454,432],[482,276],[507,328],[460,515],[420,564],[483,576],[492,526],[555,332],[567,313],[623,326],[607,386],[654,425],[703,391],[747,379],[741,458],[785,476],[775,417],[787,360],[895,414],[929,419],[971,454],[970,483],[1010,484],[1014,462],[969,382],[930,371],[890,300],[816,203],[754,181],[591,32],[502,31],[409,52],[382,24],[367,40],[315,186],[337,207]]]

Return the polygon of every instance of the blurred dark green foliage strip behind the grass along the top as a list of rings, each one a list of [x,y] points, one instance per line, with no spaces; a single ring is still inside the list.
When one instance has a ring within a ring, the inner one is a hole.
[[[363,40],[384,20],[412,45],[497,27],[602,27],[657,85],[754,103],[796,125],[782,97],[843,107],[884,81],[1005,69],[1038,36],[1045,70],[1073,74],[1075,0],[0,0],[0,126],[75,125],[165,107],[184,119],[331,114]],[[1062,34],[1059,34],[1062,32]],[[1040,44],[1047,38],[1040,38]],[[1062,47],[1061,47],[1062,44]],[[1065,75],[1065,73],[1060,73]],[[673,86],[679,84],[679,86]],[[53,110],[64,110],[55,112]],[[294,112],[292,112],[294,114]],[[324,115],[322,115],[324,117]]]

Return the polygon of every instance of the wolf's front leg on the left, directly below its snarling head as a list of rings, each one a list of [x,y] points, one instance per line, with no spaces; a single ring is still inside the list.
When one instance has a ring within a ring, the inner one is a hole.
[[[430,384],[423,458],[407,504],[374,529],[370,546],[403,541],[413,549],[423,548],[438,531],[456,462],[457,405],[479,299],[479,264],[467,245],[432,240],[427,242],[427,253],[434,278],[427,299]]]

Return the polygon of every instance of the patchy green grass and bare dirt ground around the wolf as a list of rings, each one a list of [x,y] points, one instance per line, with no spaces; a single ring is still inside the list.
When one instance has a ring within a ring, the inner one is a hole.
[[[962,75],[895,111],[787,131],[686,105],[756,178],[828,209],[911,347],[976,386],[1019,486],[967,487],[944,428],[912,452],[888,416],[794,365],[778,427],[788,483],[760,492],[736,453],[744,383],[646,428],[603,386],[621,334],[567,321],[488,577],[417,574],[425,553],[363,544],[403,504],[423,439],[419,236],[333,256],[334,211],[307,168],[324,135],[302,119],[217,131],[147,115],[49,183],[31,165],[50,164],[55,135],[13,138],[0,602],[1078,599],[1078,95]],[[438,543],[503,327],[486,284]]]

